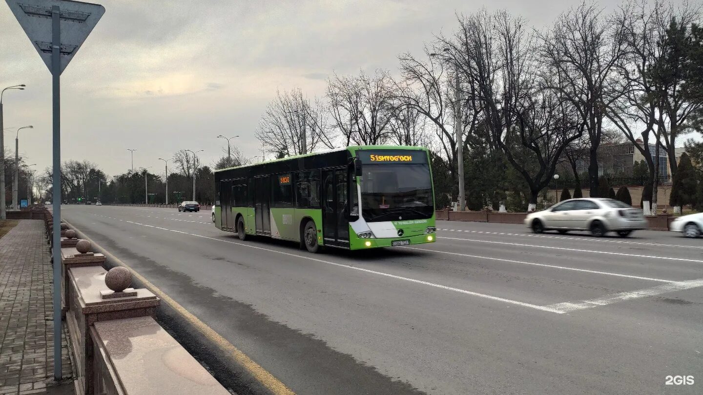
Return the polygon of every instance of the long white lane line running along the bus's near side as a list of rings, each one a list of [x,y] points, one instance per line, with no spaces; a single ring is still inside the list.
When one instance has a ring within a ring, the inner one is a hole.
[[[132,224],[134,224],[134,223],[132,223]],[[357,266],[351,266],[351,265],[347,265],[347,264],[337,264],[336,262],[325,261],[325,260],[323,260],[323,259],[317,259],[317,258],[312,258],[312,257],[304,257],[304,256],[302,256],[302,255],[291,254],[290,252],[283,252],[283,251],[271,250],[270,248],[257,247],[257,246],[255,246],[255,245],[247,245],[247,244],[243,244],[243,243],[241,243],[241,242],[233,242],[233,241],[230,241],[230,240],[222,240],[222,239],[218,239],[218,238],[210,238],[210,237],[208,237],[208,236],[197,235],[197,234],[195,234],[195,233],[186,233],[186,232],[181,232],[181,231],[174,231],[173,229],[167,229],[167,231],[172,231],[172,232],[176,232],[176,233],[183,233],[184,235],[191,235],[191,236],[195,236],[195,237],[198,237],[198,238],[205,238],[205,239],[208,239],[208,240],[214,240],[214,241],[219,241],[219,242],[226,242],[226,243],[234,244],[234,245],[240,245],[240,246],[242,246],[242,247],[253,248],[254,250],[262,250],[262,251],[267,251],[267,252],[275,252],[276,254],[287,255],[287,256],[289,256],[289,257],[296,257],[296,258],[300,258],[300,259],[307,259],[307,260],[309,260],[309,261],[316,261],[316,262],[320,262],[320,263],[323,263],[323,264],[330,264],[330,265],[339,266],[339,267],[342,267],[342,268],[354,269],[354,270],[356,270],[356,271],[363,271],[363,272],[370,273],[370,274],[375,274],[375,275],[378,275],[378,276],[384,276],[384,277],[394,278],[394,279],[396,279],[396,280],[404,280],[404,281],[408,281],[408,282],[410,282],[410,283],[428,285],[428,286],[430,286],[430,287],[436,287],[436,288],[440,288],[440,289],[442,289],[442,290],[448,290],[448,291],[453,291],[453,292],[459,292],[459,293],[462,293],[462,294],[469,294],[469,295],[472,295],[472,296],[475,296],[475,297],[482,297],[482,298],[484,298],[484,299],[496,300],[496,301],[498,301],[498,302],[504,302],[504,303],[508,303],[508,304],[516,304],[516,305],[518,305],[518,306],[529,307],[529,308],[531,308],[531,309],[536,309],[536,310],[541,310],[541,311],[548,311],[548,312],[550,312],[550,313],[557,313],[557,314],[563,314],[563,313],[564,313],[564,312],[562,312],[562,311],[560,311],[560,310],[552,309],[552,308],[546,307],[546,306],[538,306],[538,305],[536,305],[536,304],[529,304],[529,303],[525,303],[525,302],[519,302],[519,301],[517,301],[517,300],[505,299],[505,298],[502,298],[502,297],[494,297],[494,296],[492,296],[492,295],[481,294],[481,293],[479,293],[479,292],[472,292],[472,291],[468,291],[468,290],[462,290],[462,289],[460,289],[460,288],[448,287],[448,286],[446,286],[446,285],[441,285],[441,284],[437,284],[437,283],[430,283],[430,282],[428,282],[428,281],[416,280],[415,278],[408,278],[408,277],[403,277],[403,276],[396,276],[396,275],[390,274],[390,273],[383,273],[382,271],[375,271],[375,270],[370,270],[370,269],[367,269],[367,268],[360,268],[360,267],[357,267]]]

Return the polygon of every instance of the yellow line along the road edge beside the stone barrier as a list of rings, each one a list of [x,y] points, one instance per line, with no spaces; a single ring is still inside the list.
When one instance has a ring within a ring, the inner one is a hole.
[[[195,329],[198,330],[198,332],[200,332],[201,335],[214,342],[214,344],[219,347],[221,351],[224,351],[226,355],[231,355],[232,358],[236,361],[236,363],[243,366],[247,370],[247,372],[254,376],[257,381],[262,383],[264,387],[269,389],[274,395],[295,395],[295,392],[293,392],[290,388],[286,387],[285,384],[280,382],[280,380],[278,380],[276,377],[273,377],[273,375],[271,375],[268,370],[262,368],[262,366],[254,362],[252,358],[249,358],[247,354],[244,354],[242,351],[240,351],[240,349],[234,347],[234,345],[228,342],[227,339],[212,330],[212,328],[203,323],[198,317],[194,316],[193,313],[186,310],[183,306],[181,306],[181,304],[169,297],[169,295],[165,294],[162,290],[156,287],[156,285],[150,283],[149,280],[143,278],[143,276],[134,271],[133,268],[129,267],[127,264],[124,264],[124,262],[121,261],[119,258],[115,257],[115,255],[110,254],[110,252],[100,247],[96,242],[91,240],[84,233],[78,231],[77,228],[75,226],[72,226],[68,221],[65,222],[66,224],[68,224],[68,226],[70,226],[71,229],[75,230],[76,233],[78,233],[79,238],[91,242],[93,248],[95,250],[100,250],[99,252],[105,255],[105,257],[110,258],[110,261],[113,261],[116,264],[119,264],[120,266],[128,268],[129,271],[131,271],[132,275],[138,278],[138,280],[140,280],[144,284],[144,286],[148,288],[148,290],[153,292],[157,297],[160,297],[160,299],[166,302],[169,306],[171,306],[172,309],[180,313],[183,318],[186,318],[186,320],[188,320],[188,322],[191,323],[191,325],[193,325]]]

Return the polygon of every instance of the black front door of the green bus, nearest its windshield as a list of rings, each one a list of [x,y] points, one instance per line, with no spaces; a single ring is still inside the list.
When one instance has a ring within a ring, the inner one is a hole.
[[[326,245],[349,247],[347,169],[322,171],[322,237]]]

